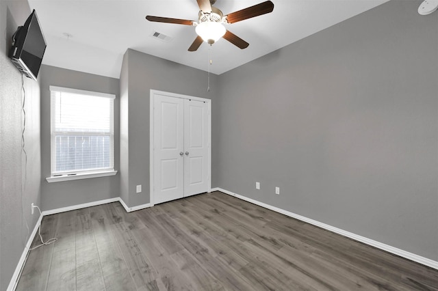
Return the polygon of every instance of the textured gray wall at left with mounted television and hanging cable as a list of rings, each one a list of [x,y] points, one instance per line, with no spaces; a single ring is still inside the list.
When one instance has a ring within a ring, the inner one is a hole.
[[[21,74],[8,58],[11,37],[31,10],[27,1],[0,1],[0,290],[6,290],[29,235],[38,221],[30,204],[40,206],[40,90],[24,78],[25,150]]]

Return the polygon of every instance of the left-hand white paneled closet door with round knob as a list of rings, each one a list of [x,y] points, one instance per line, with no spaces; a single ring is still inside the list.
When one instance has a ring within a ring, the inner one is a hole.
[[[184,102],[181,98],[154,98],[155,204],[184,195]]]

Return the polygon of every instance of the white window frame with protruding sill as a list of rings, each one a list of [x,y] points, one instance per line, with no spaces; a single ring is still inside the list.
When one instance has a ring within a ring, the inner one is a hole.
[[[67,87],[58,87],[58,86],[49,86],[50,89],[50,103],[51,103],[51,114],[50,114],[50,122],[51,122],[51,150],[50,150],[50,159],[51,159],[51,170],[50,177],[46,178],[47,182],[57,182],[57,181],[66,181],[66,180],[78,180],[85,178],[96,178],[102,176],[114,176],[117,174],[117,171],[114,170],[114,99],[116,99],[115,94],[101,93],[101,92],[93,92],[82,89],[73,89]],[[81,94],[86,96],[100,97],[100,98],[110,98],[112,99],[112,110],[110,112],[110,135],[107,133],[73,133],[70,131],[55,131],[55,106],[53,98],[55,98],[55,94],[53,92],[62,92],[62,93],[72,93],[72,94]],[[81,135],[95,135],[95,136],[110,136],[110,167],[104,169],[86,169],[86,170],[75,170],[75,171],[62,171],[56,172],[56,136],[59,135],[70,135],[70,136],[81,136]]]

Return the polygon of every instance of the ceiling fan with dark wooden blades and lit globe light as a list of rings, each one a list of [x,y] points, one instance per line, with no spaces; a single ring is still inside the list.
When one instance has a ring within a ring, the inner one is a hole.
[[[255,16],[260,16],[267,14],[274,10],[274,3],[272,1],[265,1],[257,5],[227,14],[224,16],[222,11],[214,7],[213,4],[216,0],[196,0],[199,6],[198,22],[193,20],[185,20],[178,18],[168,18],[159,16],[146,16],[149,21],[157,23],[174,23],[179,25],[192,25],[196,26],[196,34],[198,36],[189,47],[188,51],[196,51],[203,41],[208,44],[214,44],[220,38],[228,40],[235,46],[239,48],[247,48],[248,42],[242,40],[234,33],[231,33],[222,25],[227,25],[231,23],[237,23],[248,18],[253,18]]]

